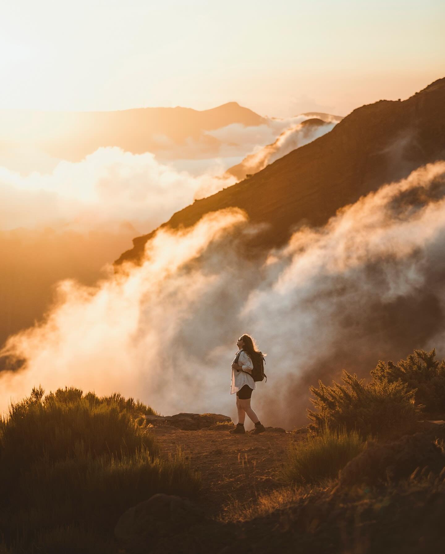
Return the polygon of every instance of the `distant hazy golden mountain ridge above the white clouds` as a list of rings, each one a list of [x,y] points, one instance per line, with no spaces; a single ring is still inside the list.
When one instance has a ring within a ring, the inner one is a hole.
[[[143,153],[193,140],[218,151],[219,141],[205,131],[265,122],[237,102],[203,111],[179,106],[99,112],[0,110],[0,146],[32,142],[48,156],[73,162],[100,146]]]

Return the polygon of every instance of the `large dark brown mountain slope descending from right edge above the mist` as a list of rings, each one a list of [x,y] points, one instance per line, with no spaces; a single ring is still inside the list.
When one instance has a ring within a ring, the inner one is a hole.
[[[445,158],[445,78],[404,101],[357,108],[319,139],[297,148],[253,177],[195,201],[162,225],[196,223],[205,213],[239,207],[269,224],[257,247],[281,245],[301,224],[322,225],[338,208],[382,184]],[[137,262],[150,233],[117,260]]]

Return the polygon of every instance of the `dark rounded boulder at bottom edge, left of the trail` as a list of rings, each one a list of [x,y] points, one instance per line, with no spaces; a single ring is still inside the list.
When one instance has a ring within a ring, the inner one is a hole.
[[[132,553],[146,552],[159,538],[180,532],[203,518],[203,511],[190,500],[155,494],[120,516],[114,536]]]

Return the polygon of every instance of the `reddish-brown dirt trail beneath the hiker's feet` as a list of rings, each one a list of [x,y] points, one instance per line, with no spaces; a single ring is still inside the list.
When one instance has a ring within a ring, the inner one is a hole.
[[[169,426],[150,430],[164,455],[180,447],[190,456],[192,468],[201,472],[199,504],[209,515],[218,514],[231,501],[245,502],[276,489],[277,468],[285,458],[290,433],[269,432],[233,435],[228,431],[184,431]]]

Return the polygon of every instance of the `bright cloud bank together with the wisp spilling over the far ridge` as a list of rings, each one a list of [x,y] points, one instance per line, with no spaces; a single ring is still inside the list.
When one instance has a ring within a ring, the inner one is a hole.
[[[234,184],[236,178],[224,174],[227,164],[260,151],[283,130],[305,119],[222,127],[213,132],[222,141],[218,156],[204,161],[164,163],[150,152],[133,154],[119,147],[102,147],[80,162],[58,161],[49,173],[33,171],[25,176],[0,167],[0,230],[49,225],[114,232],[129,222],[139,233],[148,233],[194,199]]]

